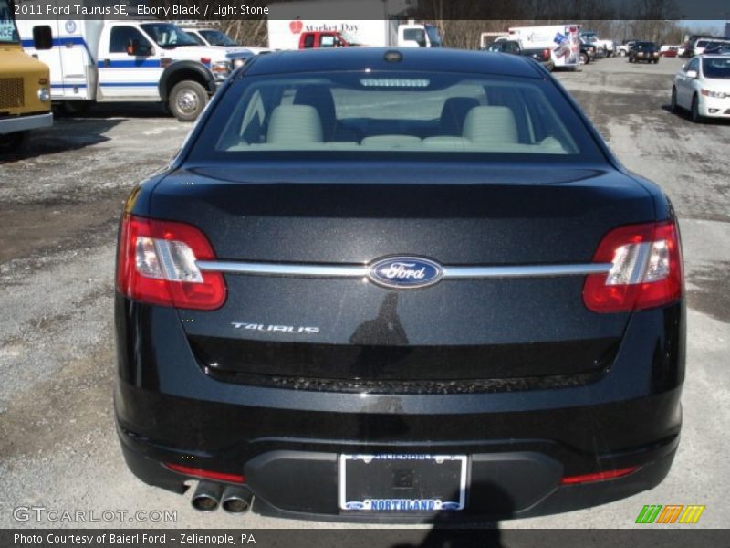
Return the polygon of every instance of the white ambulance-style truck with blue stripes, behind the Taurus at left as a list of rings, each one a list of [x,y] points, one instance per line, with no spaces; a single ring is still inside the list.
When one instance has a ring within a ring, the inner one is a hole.
[[[17,23],[26,52],[51,69],[51,100],[72,112],[93,101],[162,101],[178,120],[193,121],[237,58],[224,48],[198,45],[182,28],[164,21]],[[33,46],[39,26],[50,27],[49,50]]]

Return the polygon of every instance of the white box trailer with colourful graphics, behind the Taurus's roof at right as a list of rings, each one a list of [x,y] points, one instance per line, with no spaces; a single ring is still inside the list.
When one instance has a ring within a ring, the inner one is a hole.
[[[549,49],[556,68],[575,69],[580,64],[580,26],[577,24],[512,26],[509,37],[518,40],[525,49]]]

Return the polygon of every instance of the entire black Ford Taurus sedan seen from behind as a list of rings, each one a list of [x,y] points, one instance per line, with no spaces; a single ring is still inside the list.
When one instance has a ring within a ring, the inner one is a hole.
[[[116,325],[124,456],[201,510],[567,511],[679,441],[672,205],[527,58],[255,58],[130,195]]]

